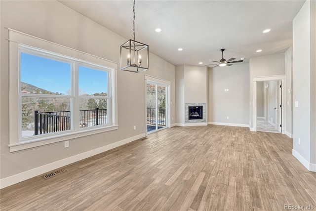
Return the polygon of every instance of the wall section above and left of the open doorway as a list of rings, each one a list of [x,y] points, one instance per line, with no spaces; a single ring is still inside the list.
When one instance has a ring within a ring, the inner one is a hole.
[[[284,75],[284,53],[253,57],[249,60],[250,67],[250,127],[253,127],[253,77]],[[269,87],[270,88],[270,87]]]

